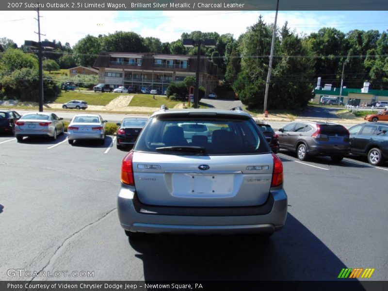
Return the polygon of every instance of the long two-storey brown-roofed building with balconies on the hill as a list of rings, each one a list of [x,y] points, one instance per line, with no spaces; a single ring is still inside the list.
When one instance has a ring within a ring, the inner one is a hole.
[[[213,92],[218,84],[218,66],[201,56],[197,64],[196,56],[171,55],[158,53],[105,52],[101,53],[94,64],[98,68],[100,83],[156,89],[161,94],[171,82],[181,82],[187,76],[195,78],[199,65],[199,85],[206,95]]]

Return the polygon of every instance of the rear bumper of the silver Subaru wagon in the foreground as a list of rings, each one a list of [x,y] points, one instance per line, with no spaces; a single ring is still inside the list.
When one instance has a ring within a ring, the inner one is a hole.
[[[141,204],[131,189],[122,187],[117,212],[121,226],[134,232],[272,233],[284,226],[287,194],[283,189],[272,191],[258,207],[158,207]]]

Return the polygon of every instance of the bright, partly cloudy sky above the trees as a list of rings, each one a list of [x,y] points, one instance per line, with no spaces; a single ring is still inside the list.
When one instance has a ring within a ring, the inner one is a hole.
[[[274,11],[41,11],[42,40],[68,42],[74,46],[87,34],[98,36],[115,31],[133,31],[162,42],[178,40],[183,32],[231,33],[238,38],[259,15],[266,23],[275,20]],[[37,40],[35,11],[0,11],[0,37],[18,46]],[[286,21],[291,30],[303,35],[322,27],[342,32],[354,29],[388,30],[388,11],[280,11],[277,26]]]

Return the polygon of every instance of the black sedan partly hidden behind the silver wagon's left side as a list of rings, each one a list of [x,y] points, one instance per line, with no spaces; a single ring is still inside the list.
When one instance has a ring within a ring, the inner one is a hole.
[[[147,118],[124,118],[121,123],[117,123],[120,127],[117,130],[116,147],[122,149],[133,146],[147,120]]]

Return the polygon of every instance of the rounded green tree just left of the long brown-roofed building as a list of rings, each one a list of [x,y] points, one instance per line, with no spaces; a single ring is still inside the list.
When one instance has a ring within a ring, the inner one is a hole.
[[[93,66],[101,52],[101,40],[88,34],[77,42],[73,50],[77,65]]]

